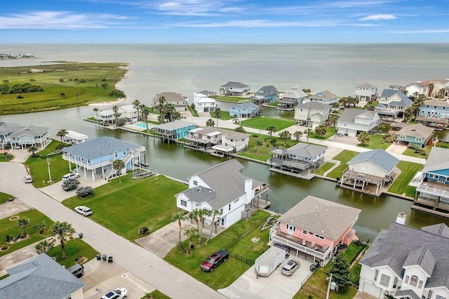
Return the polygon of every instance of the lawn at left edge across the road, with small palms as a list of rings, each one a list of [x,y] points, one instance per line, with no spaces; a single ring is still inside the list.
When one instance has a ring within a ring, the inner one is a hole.
[[[19,237],[22,229],[16,227],[18,220],[11,221],[9,220],[9,218],[0,220],[0,247],[3,245],[7,245],[10,247],[8,251],[0,251],[0,256],[6,255],[20,248],[28,246],[29,244],[33,244],[34,242],[44,239],[46,237],[46,234],[48,234],[49,227],[53,225],[53,221],[50,218],[48,218],[46,215],[43,215],[43,213],[37,210],[25,211],[17,215],[20,217],[19,219],[29,218],[30,224],[29,227],[27,227],[27,233],[29,234],[29,237],[14,244],[6,244],[6,236]],[[43,234],[39,234],[39,230],[34,229],[33,225],[37,225],[42,221],[46,222],[47,227]]]

